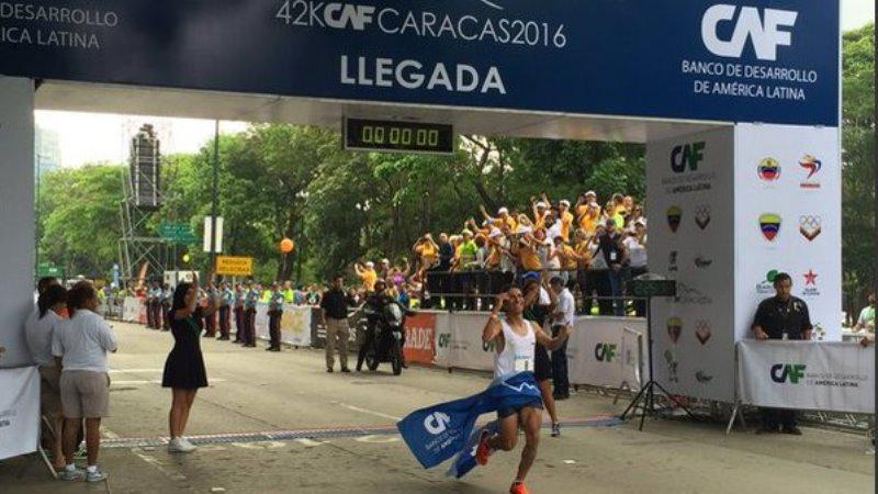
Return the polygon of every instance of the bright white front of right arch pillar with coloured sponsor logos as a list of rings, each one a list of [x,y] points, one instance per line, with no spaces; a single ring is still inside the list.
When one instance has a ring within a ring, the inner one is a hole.
[[[837,128],[735,126],[735,318],[748,337],[779,272],[808,305],[813,338],[842,339],[842,162]]]

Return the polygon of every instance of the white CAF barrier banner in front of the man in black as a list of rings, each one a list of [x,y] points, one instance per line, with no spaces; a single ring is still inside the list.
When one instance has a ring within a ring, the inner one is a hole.
[[[738,344],[739,400],[769,408],[875,413],[875,347],[836,341]]]

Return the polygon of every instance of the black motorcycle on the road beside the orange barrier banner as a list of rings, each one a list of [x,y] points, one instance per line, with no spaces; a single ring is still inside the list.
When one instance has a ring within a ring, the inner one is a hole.
[[[404,324],[407,311],[397,302],[390,302],[380,310],[367,304],[363,314],[374,324],[375,332],[372,340],[364,344],[367,368],[375,371],[381,363],[389,362],[393,374],[399,375],[403,372]]]

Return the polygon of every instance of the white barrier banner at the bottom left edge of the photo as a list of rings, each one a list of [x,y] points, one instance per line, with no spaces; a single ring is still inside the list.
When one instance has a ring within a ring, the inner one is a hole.
[[[0,460],[36,451],[40,438],[40,371],[0,369]]]

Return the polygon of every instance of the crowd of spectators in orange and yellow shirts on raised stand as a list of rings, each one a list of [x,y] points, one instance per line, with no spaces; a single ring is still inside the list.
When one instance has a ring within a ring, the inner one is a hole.
[[[354,296],[384,279],[406,306],[486,310],[503,287],[537,273],[561,278],[582,313],[642,315],[642,304],[624,299],[624,283],[646,272],[646,217],[632,197],[617,193],[601,205],[592,191],[574,204],[542,194],[527,209],[481,213],[460,232],[423,235],[410,263],[356,263],[362,285]]]

